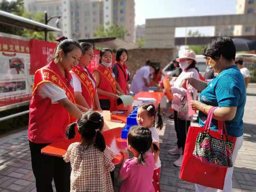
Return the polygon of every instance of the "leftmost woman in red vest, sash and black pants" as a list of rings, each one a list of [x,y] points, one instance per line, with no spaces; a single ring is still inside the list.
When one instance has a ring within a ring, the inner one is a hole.
[[[57,192],[70,191],[70,163],[65,163],[63,158],[44,155],[41,149],[50,143],[65,141],[67,125],[80,117],[81,110],[86,110],[75,104],[69,73],[78,64],[81,54],[77,42],[63,40],[51,62],[35,73],[28,139],[37,192],[53,191],[52,179]]]

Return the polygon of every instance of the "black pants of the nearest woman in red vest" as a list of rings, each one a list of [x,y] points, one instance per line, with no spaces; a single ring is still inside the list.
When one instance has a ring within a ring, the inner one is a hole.
[[[53,192],[52,179],[57,192],[70,191],[70,163],[63,158],[44,155],[41,149],[48,144],[29,141],[33,173],[36,178],[37,192]]]

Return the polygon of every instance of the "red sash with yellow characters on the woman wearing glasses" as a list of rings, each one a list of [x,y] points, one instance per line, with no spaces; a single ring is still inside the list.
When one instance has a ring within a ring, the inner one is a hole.
[[[89,78],[89,76],[87,75],[87,73],[84,70],[83,71],[79,70],[77,67],[75,67],[74,70],[70,71],[70,73],[74,73],[77,76],[77,78],[82,82],[84,87],[89,92],[90,100],[91,100],[93,109],[96,109],[95,108],[95,103],[94,103],[95,90],[94,90],[92,81]]]

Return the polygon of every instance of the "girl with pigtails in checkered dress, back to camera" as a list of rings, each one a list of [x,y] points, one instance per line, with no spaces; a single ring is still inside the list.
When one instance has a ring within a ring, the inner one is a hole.
[[[87,111],[76,123],[66,130],[66,137],[72,139],[76,134],[76,125],[81,142],[69,145],[63,156],[71,163],[70,192],[101,191],[113,192],[110,172],[115,169],[111,162],[115,153],[106,146],[102,135],[104,120],[100,113]]]

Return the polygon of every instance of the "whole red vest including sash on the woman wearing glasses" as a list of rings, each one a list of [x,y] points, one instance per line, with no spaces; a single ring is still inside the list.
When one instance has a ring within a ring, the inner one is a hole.
[[[86,100],[86,102],[88,103],[88,105],[90,107],[93,106],[93,109],[95,109],[94,96],[96,92],[96,86],[95,88],[93,87],[92,81],[90,80],[89,76],[92,78],[95,85],[96,85],[96,81],[88,69],[87,71],[89,72],[89,74],[86,71],[84,71],[84,69],[80,65],[77,65],[75,68],[72,68],[70,73],[76,74],[77,78],[81,81],[82,95]]]

